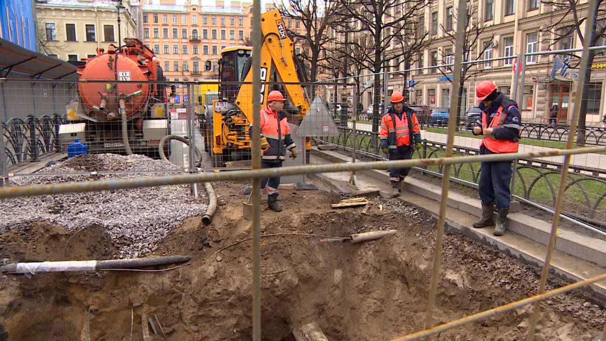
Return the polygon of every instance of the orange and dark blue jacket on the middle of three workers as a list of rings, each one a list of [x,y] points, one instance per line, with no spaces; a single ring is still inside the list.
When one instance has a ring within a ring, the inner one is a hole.
[[[409,117],[410,121],[408,121]],[[413,139],[410,138],[411,135]],[[411,146],[411,140],[415,143],[421,142],[421,124],[416,118],[415,111],[404,106],[402,113],[396,113],[392,104],[381,118],[379,138],[381,148],[388,147],[390,150],[396,150],[404,145]]]

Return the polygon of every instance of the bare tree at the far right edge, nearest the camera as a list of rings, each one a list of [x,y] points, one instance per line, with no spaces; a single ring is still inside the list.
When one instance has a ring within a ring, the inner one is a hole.
[[[591,30],[590,47],[598,46],[598,42],[604,41],[606,33],[606,8],[602,6],[604,0],[596,1],[596,8],[588,8],[588,4],[580,4],[579,1],[575,0],[541,0],[545,5],[551,6],[553,9],[552,18],[554,18],[549,24],[546,30],[542,32],[551,32],[554,34],[551,46],[559,44],[563,39],[568,38],[570,32],[576,33],[579,41],[584,43],[584,32],[581,30],[581,25],[590,18],[594,17],[593,27]],[[561,30],[565,28],[565,30]],[[589,51],[589,55],[585,61],[587,63],[587,71],[585,72],[585,84],[583,86],[582,100],[581,100],[581,115],[579,116],[578,133],[576,135],[576,144],[578,146],[585,145],[585,128],[586,126],[586,115],[587,115],[587,100],[589,95],[589,83],[591,79],[591,64],[593,64],[593,58],[596,54],[601,52]]]

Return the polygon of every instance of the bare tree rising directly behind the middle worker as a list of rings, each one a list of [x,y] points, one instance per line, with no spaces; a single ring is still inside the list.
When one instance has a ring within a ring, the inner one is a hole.
[[[406,58],[410,55],[408,49],[393,49],[392,45],[408,46],[411,41],[402,44],[402,37],[415,36],[418,30],[419,13],[430,4],[425,0],[407,0],[404,6],[401,0],[337,0],[339,3],[339,21],[335,21],[335,29],[342,33],[359,33],[370,36],[372,46],[362,56],[364,64],[370,72],[374,73],[374,106],[373,106],[373,132],[378,132],[381,113],[381,71],[392,59]],[[407,38],[408,39],[408,38]],[[427,39],[427,35],[416,41],[412,46],[419,46],[419,42]],[[355,42],[352,43],[355,46]],[[358,48],[358,46],[355,46]],[[387,92],[387,89],[385,89]]]

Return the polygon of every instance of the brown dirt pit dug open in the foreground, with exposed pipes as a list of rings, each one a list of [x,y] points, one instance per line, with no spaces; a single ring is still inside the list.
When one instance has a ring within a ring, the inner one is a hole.
[[[142,340],[142,316],[156,316],[167,340],[250,339],[252,247],[242,218],[243,184],[215,183],[219,209],[210,226],[199,217],[162,240],[155,255],[194,255],[167,271],[0,275],[0,339]],[[326,187],[330,187],[328,184]],[[344,198],[328,191],[281,189],[275,213],[262,206],[262,339],[295,340],[291,326],[316,322],[329,340],[387,340],[424,328],[436,221],[401,200],[371,199],[331,209]],[[265,201],[265,197],[263,198]],[[321,237],[397,229],[359,244]],[[0,235],[0,258],[61,260],[73,234],[44,223]],[[241,241],[241,242],[239,242]],[[67,259],[110,259],[118,247],[88,228]],[[153,257],[153,255],[150,255]],[[456,232],[444,240],[435,325],[533,295],[539,271]],[[158,268],[148,268],[155,270]],[[551,278],[549,288],[565,285]],[[542,304],[535,340],[593,340],[606,318],[604,302],[574,291]],[[522,340],[531,306],[445,331],[434,340]],[[133,316],[133,319],[131,319]],[[87,329],[90,326],[90,332]],[[132,331],[132,332],[131,332]],[[151,329],[150,329],[150,333]],[[152,333],[153,334],[153,333]],[[153,339],[153,336],[152,336]]]

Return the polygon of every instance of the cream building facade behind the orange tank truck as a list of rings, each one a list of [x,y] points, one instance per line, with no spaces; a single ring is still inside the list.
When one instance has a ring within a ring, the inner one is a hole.
[[[98,47],[107,50],[110,44],[118,45],[119,36],[139,38],[138,2],[122,3],[120,32],[117,4],[110,0],[36,1],[40,52],[66,61],[81,61],[96,55]]]

